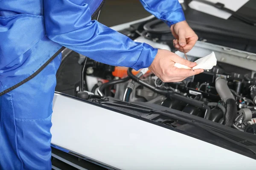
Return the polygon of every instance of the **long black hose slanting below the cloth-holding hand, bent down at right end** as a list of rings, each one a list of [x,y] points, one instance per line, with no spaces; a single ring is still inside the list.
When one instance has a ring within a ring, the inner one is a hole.
[[[175,92],[172,92],[172,91],[163,91],[163,90],[160,90],[158,88],[155,88],[154,86],[151,86],[145,82],[143,82],[140,78],[134,76],[134,74],[132,74],[132,68],[129,68],[128,71],[127,71],[127,74],[129,77],[131,77],[132,80],[134,80],[135,82],[138,82],[140,85],[143,85],[144,87],[158,93],[158,94],[161,94],[161,95],[164,95],[166,97],[168,97],[169,99],[177,99],[179,101],[182,101],[182,102],[185,102],[189,105],[193,105],[195,107],[198,107],[198,108],[201,108],[203,110],[205,110],[205,115],[204,115],[204,118],[205,119],[209,119],[210,118],[210,114],[211,114],[211,109],[209,108],[209,106],[207,106],[206,104],[204,104],[204,102],[201,102],[201,101],[198,101],[198,100],[195,100],[195,99],[190,99],[190,98],[187,98],[185,96],[181,96],[181,95],[178,95],[178,94],[175,94]]]

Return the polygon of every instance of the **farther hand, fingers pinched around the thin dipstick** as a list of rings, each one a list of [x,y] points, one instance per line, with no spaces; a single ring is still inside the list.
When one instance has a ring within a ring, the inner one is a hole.
[[[171,31],[172,35],[177,39],[173,40],[173,45],[180,52],[189,52],[195,45],[195,42],[198,40],[198,36],[195,34],[192,28],[190,28],[186,21],[172,25]]]

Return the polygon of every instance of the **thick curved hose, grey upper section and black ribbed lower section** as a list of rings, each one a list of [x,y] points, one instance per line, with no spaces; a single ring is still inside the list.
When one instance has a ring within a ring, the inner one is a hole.
[[[224,117],[224,125],[231,127],[234,120],[236,119],[237,114],[235,97],[230,91],[230,88],[228,87],[227,81],[224,79],[224,77],[217,77],[215,79],[215,88],[221,99],[227,105],[227,110]]]

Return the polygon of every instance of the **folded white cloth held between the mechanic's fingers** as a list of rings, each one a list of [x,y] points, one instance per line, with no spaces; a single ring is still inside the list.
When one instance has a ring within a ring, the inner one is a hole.
[[[186,69],[204,69],[204,70],[210,70],[213,68],[213,66],[217,65],[217,59],[215,57],[214,52],[212,52],[211,54],[209,54],[208,56],[202,57],[198,60],[195,61],[197,63],[197,65],[193,68],[190,68],[186,65],[182,65],[180,63],[175,63],[175,67],[177,68],[186,68]]]

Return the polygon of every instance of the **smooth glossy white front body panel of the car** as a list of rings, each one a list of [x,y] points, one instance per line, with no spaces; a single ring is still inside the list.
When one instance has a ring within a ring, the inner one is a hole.
[[[241,170],[256,160],[175,131],[55,94],[52,144],[121,170]]]

